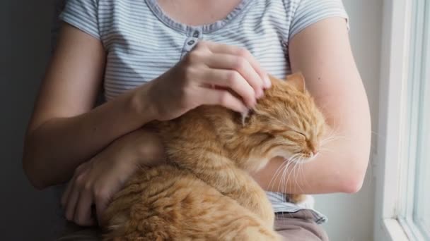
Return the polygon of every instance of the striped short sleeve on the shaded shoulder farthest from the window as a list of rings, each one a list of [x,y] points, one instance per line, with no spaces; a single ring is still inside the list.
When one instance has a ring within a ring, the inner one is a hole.
[[[100,39],[98,0],[67,0],[59,18],[88,35]]]

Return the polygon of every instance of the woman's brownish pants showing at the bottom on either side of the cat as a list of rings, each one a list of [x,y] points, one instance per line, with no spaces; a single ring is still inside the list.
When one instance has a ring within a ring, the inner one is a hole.
[[[327,241],[325,231],[316,224],[306,211],[293,214],[277,214],[275,229],[289,241]],[[80,228],[69,224],[64,235],[57,241],[97,241],[100,240],[100,230],[97,228]]]

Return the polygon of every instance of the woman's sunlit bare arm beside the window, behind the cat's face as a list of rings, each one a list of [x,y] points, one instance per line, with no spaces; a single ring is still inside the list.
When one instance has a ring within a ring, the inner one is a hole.
[[[368,164],[371,118],[344,18],[310,25],[291,39],[289,51],[293,72],[301,71],[305,76],[306,87],[335,139],[323,146],[327,151],[322,150],[300,170],[289,168],[290,178],[273,178],[284,162],[281,159],[272,160],[255,178],[266,190],[275,192],[278,187],[287,193],[357,192]]]

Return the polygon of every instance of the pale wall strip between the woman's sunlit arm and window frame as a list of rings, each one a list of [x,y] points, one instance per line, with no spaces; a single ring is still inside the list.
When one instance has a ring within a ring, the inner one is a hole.
[[[344,0],[351,24],[351,45],[371,106],[372,129],[378,132],[378,92],[383,0]],[[357,116],[359,118],[359,116]],[[376,143],[377,135],[373,135]],[[373,144],[372,153],[375,152]],[[371,165],[357,194],[316,196],[316,208],[329,218],[324,226],[332,241],[373,240],[375,181]]]

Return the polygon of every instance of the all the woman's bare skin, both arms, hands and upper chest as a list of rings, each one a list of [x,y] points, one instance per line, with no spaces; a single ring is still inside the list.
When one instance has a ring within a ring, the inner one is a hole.
[[[216,11],[207,3],[211,1],[178,5],[192,6],[187,11],[169,8],[174,2],[167,0],[159,4],[176,20],[199,25],[225,17],[234,6],[223,1],[217,6],[225,7]],[[199,15],[202,8],[213,14]],[[196,14],[181,14],[190,11]],[[269,87],[265,70],[248,51],[203,42],[159,78],[94,109],[106,58],[102,44],[64,24],[57,46],[28,126],[23,168],[39,189],[71,180],[62,204],[66,218],[79,225],[96,223],[91,205],[98,216],[103,214],[137,166],[163,161],[161,142],[142,125],[178,117],[202,104],[242,112]],[[305,75],[306,87],[330,128],[342,136],[327,148],[342,152],[321,151],[315,161],[302,166],[296,180],[280,183],[277,178],[269,187],[281,159],[273,159],[254,178],[266,190],[281,185],[289,193],[357,192],[368,163],[370,115],[344,19],[311,25],[291,39],[289,49],[293,71]]]

